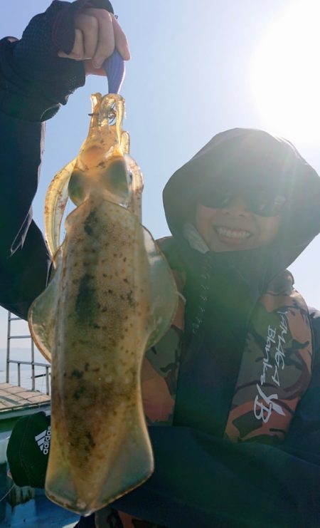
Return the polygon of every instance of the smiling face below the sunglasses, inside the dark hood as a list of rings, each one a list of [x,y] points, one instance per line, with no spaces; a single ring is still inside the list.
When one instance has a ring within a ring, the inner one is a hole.
[[[254,249],[272,242],[280,217],[265,217],[250,212],[241,194],[224,207],[211,208],[198,202],[196,229],[214,252]]]

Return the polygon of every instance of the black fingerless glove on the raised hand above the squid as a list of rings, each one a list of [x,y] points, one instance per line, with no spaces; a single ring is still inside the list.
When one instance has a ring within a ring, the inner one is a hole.
[[[113,13],[108,0],[55,0],[31,19],[21,40],[0,41],[0,111],[30,121],[44,121],[85,84],[82,61],[58,57],[75,41],[75,16],[91,6]]]

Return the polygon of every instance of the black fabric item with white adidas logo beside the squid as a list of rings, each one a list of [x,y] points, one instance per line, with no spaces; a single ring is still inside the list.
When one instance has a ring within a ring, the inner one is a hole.
[[[50,448],[50,418],[35,413],[20,418],[12,430],[6,456],[18,486],[44,487]]]

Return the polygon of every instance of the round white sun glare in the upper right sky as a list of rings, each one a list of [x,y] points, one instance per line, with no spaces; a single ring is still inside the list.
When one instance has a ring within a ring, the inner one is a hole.
[[[289,140],[320,140],[320,1],[287,5],[252,61],[252,90],[265,128]]]

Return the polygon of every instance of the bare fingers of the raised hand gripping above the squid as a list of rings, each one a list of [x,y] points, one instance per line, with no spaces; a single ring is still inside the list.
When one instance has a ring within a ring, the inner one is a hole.
[[[84,61],[85,73],[105,76],[102,64],[117,48],[124,61],[129,61],[130,51],[114,15],[105,9],[81,9],[75,17],[75,43],[68,55],[58,52],[61,58]]]

